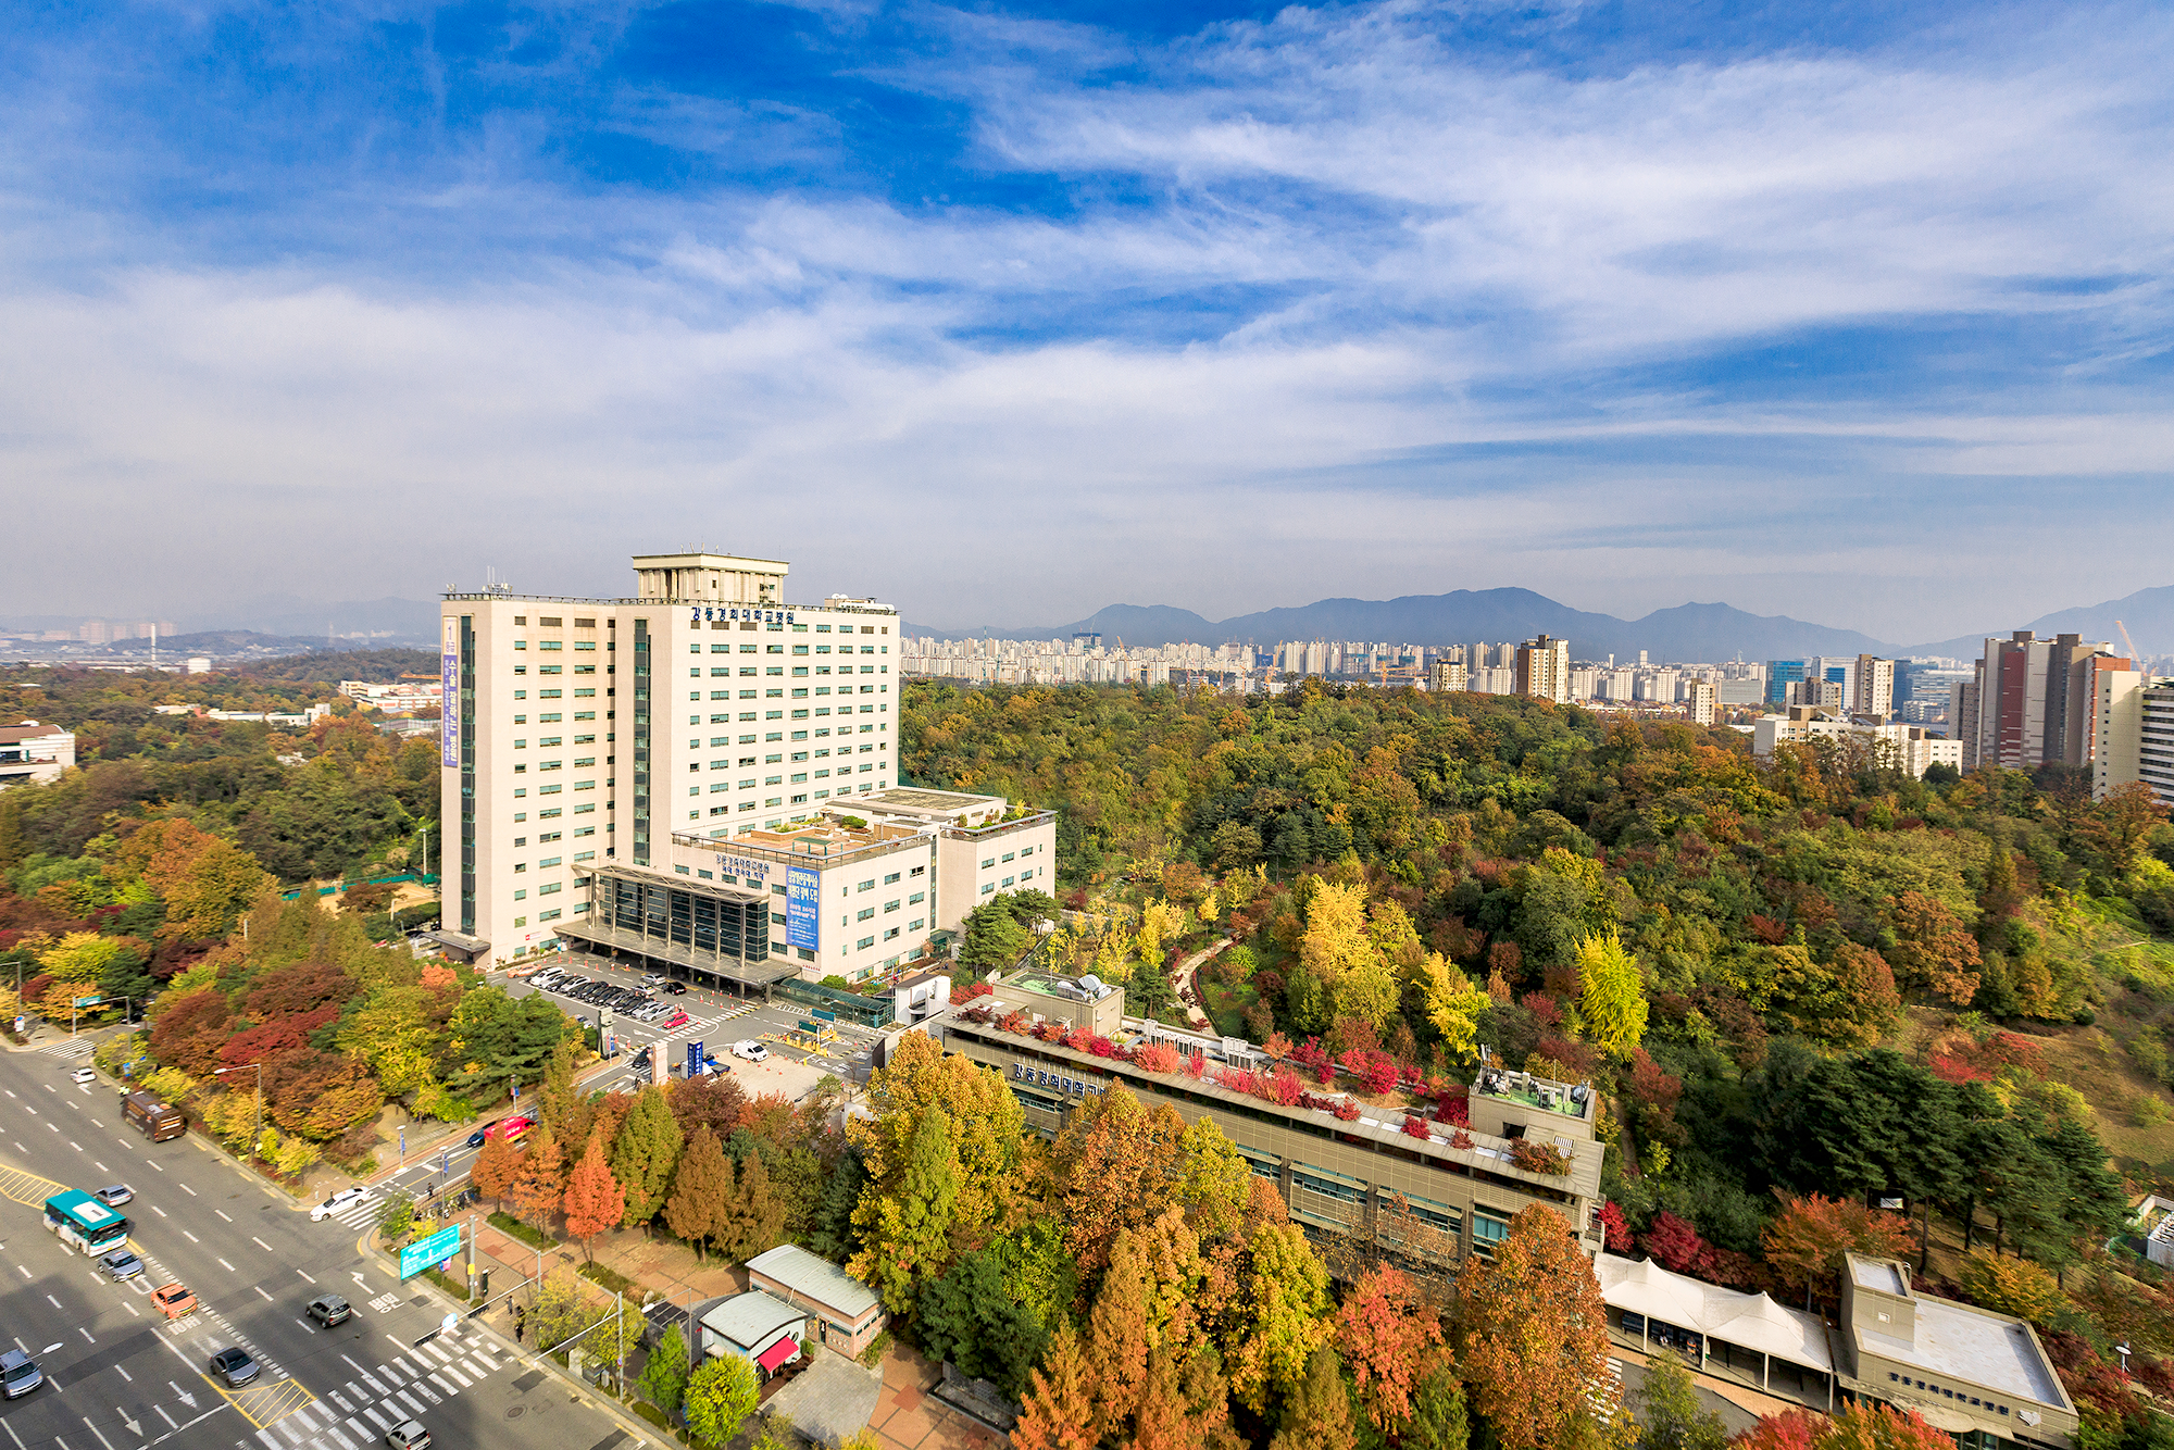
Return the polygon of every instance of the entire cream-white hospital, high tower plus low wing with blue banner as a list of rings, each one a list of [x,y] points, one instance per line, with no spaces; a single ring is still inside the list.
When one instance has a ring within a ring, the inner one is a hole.
[[[898,611],[787,604],[785,572],[644,554],[633,598],[446,596],[459,946],[861,980],[983,896],[1054,889],[1054,813],[896,787]]]

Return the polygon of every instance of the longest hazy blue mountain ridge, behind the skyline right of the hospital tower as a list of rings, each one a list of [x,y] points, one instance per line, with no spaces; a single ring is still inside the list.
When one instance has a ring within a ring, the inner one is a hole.
[[[1678,604],[1644,620],[1587,613],[1530,589],[1457,589],[1411,593],[1396,600],[1317,600],[1300,609],[1265,609],[1211,622],[1170,604],[1111,604],[1078,624],[1057,628],[937,630],[902,624],[904,633],[937,639],[1070,639],[1100,633],[1126,643],[1224,643],[1278,639],[1385,639],[1394,643],[1502,643],[1554,635],[1570,641],[1572,659],[1615,654],[1635,659],[1713,661],[1741,652],[1746,659],[1794,659],[1798,654],[1891,654],[1894,646],[1857,630],[1807,624],[1783,615],[1754,615],[1728,604]]]

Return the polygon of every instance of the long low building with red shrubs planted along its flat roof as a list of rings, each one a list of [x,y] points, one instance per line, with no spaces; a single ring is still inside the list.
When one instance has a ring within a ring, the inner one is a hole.
[[[1539,1202],[1563,1215],[1587,1254],[1600,1252],[1602,1143],[1594,1137],[1596,1098],[1583,1085],[1485,1070],[1472,1087],[1470,1130],[1430,1124],[1417,1137],[1407,1130],[1402,1109],[1367,1104],[1344,1120],[1320,1104],[1278,1104],[1230,1087],[1241,1074],[1272,1067],[1259,1048],[1124,1017],[1122,993],[1094,978],[1022,970],[991,985],[994,998],[954,1004],[926,1030],[941,1037],[946,1052],[996,1070],[1044,1135],[1054,1137],[1074,1109],[1122,1085],[1150,1109],[1170,1104],[1185,1122],[1211,1120],[1252,1172],[1276,1185],[1307,1233],[1359,1235],[1394,1248],[1396,1235],[1409,1230],[1394,1211],[1402,1198],[1439,1252],[1485,1257],[1509,1235],[1509,1220]],[[1117,1043],[1163,1043],[1180,1059],[1200,1054],[1202,1070],[1150,1072],[1009,1030],[1007,1020],[1054,1022]],[[1563,1172],[1517,1167],[1517,1139],[1552,1146]]]

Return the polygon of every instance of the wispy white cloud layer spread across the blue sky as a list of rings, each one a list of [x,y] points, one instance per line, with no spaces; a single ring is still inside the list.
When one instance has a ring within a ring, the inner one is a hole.
[[[20,196],[0,470],[17,520],[85,543],[4,604],[420,596],[483,563],[617,589],[694,535],[937,624],[1489,585],[1639,613],[1731,580],[1935,637],[2017,580],[2163,583],[2131,539],[2174,504],[2109,546],[2063,498],[2163,474],[2174,430],[2122,385],[2165,346],[2163,17],[1567,76],[1398,4],[1285,11],[1144,57],[1152,87],[1096,83],[1128,59],[1096,33],[957,33],[907,78],[972,100],[985,161],[1080,178],[1076,211],[583,193],[537,178],[520,115],[409,196],[359,178],[341,246],[280,263]],[[833,133],[654,87],[607,124],[802,159]],[[2126,280],[2017,285],[2076,276]],[[1859,322],[1961,333],[1854,391],[1698,361]]]

